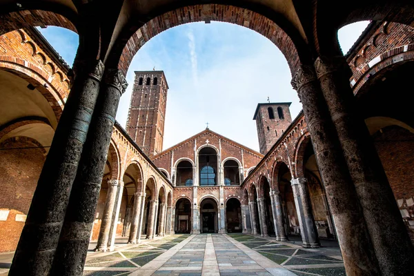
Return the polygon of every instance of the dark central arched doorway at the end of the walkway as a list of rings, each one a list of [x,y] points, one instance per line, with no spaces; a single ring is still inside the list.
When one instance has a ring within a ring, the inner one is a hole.
[[[200,232],[218,233],[217,202],[214,199],[206,198],[200,204]]]

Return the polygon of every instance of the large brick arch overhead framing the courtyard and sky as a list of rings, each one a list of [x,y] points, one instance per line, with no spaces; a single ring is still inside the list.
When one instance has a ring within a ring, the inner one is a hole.
[[[278,18],[282,20],[282,17]],[[120,42],[115,45],[115,50],[108,60],[108,65],[117,66],[126,75],[135,54],[155,35],[185,23],[210,20],[233,23],[262,34],[281,50],[288,62],[291,75],[295,74],[300,63],[297,46],[293,39],[274,21],[246,8],[210,3],[169,10],[150,19],[140,28],[139,26],[130,28],[126,31],[128,34],[124,34],[126,39],[119,39]],[[304,41],[300,41],[300,43],[301,46],[304,46]]]

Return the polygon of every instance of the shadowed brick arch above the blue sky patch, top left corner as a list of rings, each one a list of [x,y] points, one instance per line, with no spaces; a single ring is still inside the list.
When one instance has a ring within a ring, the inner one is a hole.
[[[66,28],[77,32],[75,27],[75,20],[70,20],[73,18],[74,14],[66,13],[68,16],[63,14],[58,14],[48,10],[18,10],[9,12],[7,14],[0,15],[0,35],[6,34],[6,32],[11,32],[13,30],[18,30],[21,28],[33,26],[57,26],[61,28]]]

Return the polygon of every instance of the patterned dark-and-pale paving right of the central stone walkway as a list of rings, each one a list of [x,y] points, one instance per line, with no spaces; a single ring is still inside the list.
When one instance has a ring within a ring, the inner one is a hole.
[[[302,248],[289,242],[253,235],[228,234],[296,275],[346,275],[339,248]]]

